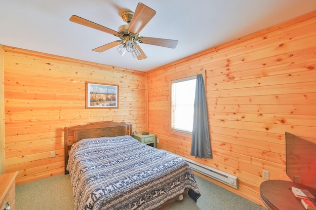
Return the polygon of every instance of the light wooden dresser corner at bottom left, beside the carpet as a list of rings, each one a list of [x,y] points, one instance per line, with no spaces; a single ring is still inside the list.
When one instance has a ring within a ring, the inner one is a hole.
[[[18,172],[0,175],[0,210],[15,210],[15,177]]]

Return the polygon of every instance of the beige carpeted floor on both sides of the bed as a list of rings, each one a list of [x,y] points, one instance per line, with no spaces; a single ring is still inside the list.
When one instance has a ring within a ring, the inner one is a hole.
[[[265,210],[222,187],[196,176],[201,197],[188,195],[168,210]],[[55,175],[16,186],[16,210],[74,210],[69,175]]]

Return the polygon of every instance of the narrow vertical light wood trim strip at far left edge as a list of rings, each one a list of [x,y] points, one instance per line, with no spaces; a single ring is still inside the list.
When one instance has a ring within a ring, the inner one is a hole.
[[[5,173],[4,151],[4,60],[3,45],[0,45],[0,175]]]

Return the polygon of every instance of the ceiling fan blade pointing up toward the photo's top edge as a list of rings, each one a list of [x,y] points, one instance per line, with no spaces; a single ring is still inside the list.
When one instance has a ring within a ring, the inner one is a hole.
[[[129,32],[134,35],[138,35],[147,23],[155,16],[155,14],[156,11],[154,9],[143,3],[138,3],[128,27]]]

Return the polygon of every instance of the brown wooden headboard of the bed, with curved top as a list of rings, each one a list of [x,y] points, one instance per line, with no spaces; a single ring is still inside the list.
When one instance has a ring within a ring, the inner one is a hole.
[[[67,171],[68,154],[75,142],[98,137],[117,137],[123,135],[132,136],[133,129],[131,122],[94,122],[86,125],[77,125],[74,127],[65,127],[65,175],[69,174]]]

